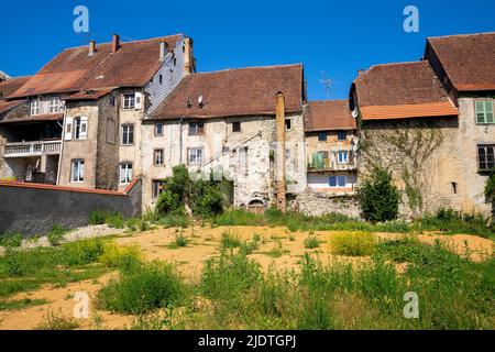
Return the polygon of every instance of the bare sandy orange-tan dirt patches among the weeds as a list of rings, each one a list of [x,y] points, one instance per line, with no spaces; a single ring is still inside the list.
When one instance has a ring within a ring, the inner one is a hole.
[[[187,246],[174,249],[170,243],[174,242],[176,231],[184,231],[189,240]],[[254,234],[261,237],[260,248],[250,255],[256,260],[264,271],[268,271],[272,266],[276,270],[297,270],[301,256],[306,252],[310,252],[314,257],[321,261],[322,264],[333,263],[334,261],[344,261],[351,263],[363,263],[369,257],[345,257],[330,253],[328,240],[334,231],[319,231],[315,235],[318,237],[321,244],[317,249],[305,249],[304,241],[308,237],[308,232],[288,232],[285,228],[270,227],[220,227],[220,228],[201,228],[193,227],[183,230],[157,228],[142,233],[132,235],[122,234],[116,241],[121,244],[139,244],[146,255],[147,260],[161,260],[174,263],[179,272],[187,279],[198,279],[205,262],[219,254],[220,239],[223,232],[229,232],[242,240],[252,240]],[[380,239],[398,238],[403,234],[377,233]],[[475,261],[483,260],[487,255],[492,255],[494,251],[494,241],[474,235],[455,234],[440,235],[435,233],[420,234],[420,241],[433,243],[437,239],[448,243],[448,245],[464,255],[466,250],[471,257]],[[282,246],[280,244],[282,243]],[[282,255],[274,255],[274,249],[282,250]],[[72,283],[65,287],[45,286],[37,290],[21,293],[10,299],[46,299],[46,304],[29,307],[19,310],[1,310],[0,311],[0,329],[34,329],[41,322],[46,321],[50,312],[55,312],[63,317],[73,317],[73,310],[77,304],[74,295],[77,292],[86,292],[95,297],[105,283],[117,275],[110,273],[98,279],[82,280]],[[78,319],[81,329],[124,329],[132,322],[131,316],[113,315],[106,311],[91,309],[88,319]]]

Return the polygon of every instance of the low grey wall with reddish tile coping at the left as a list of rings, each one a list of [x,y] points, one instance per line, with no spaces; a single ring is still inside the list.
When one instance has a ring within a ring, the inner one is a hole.
[[[141,180],[134,180],[123,193],[0,182],[0,234],[43,235],[54,224],[84,227],[96,209],[123,217],[141,215]]]

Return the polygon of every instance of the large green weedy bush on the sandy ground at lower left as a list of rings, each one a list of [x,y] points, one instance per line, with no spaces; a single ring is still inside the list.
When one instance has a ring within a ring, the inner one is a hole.
[[[178,306],[185,285],[167,263],[151,262],[111,279],[98,294],[97,306],[116,312],[141,315],[158,308]]]

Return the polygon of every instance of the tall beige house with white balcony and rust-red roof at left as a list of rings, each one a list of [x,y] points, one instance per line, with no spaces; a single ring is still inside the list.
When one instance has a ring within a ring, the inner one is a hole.
[[[127,43],[116,34],[63,51],[9,94],[8,103],[25,109],[1,121],[0,176],[125,188],[141,174],[142,119],[193,72],[193,41],[183,34]]]

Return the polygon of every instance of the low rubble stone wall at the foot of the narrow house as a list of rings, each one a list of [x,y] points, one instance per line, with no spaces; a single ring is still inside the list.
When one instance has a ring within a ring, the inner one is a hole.
[[[337,212],[352,218],[361,217],[361,209],[354,197],[317,193],[310,188],[299,194],[292,201],[290,208],[308,216]]]

